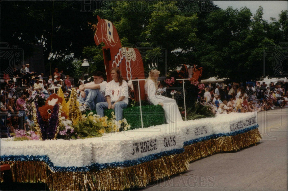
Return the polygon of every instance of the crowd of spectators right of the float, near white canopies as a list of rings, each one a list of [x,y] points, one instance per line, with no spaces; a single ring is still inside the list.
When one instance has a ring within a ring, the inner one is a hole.
[[[211,105],[213,112],[218,114],[231,112],[267,111],[275,107],[287,107],[287,83],[256,82],[252,84],[228,84],[222,87],[206,85],[200,91],[198,99],[204,105]]]

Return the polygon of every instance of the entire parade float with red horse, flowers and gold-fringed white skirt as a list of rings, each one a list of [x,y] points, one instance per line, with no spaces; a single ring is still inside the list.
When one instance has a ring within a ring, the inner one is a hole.
[[[126,80],[136,80],[135,99],[141,103],[145,76],[139,51],[121,47],[113,24],[99,17],[94,40],[96,45],[103,41],[106,45],[103,54],[107,80],[110,69],[120,67]],[[72,89],[66,102],[59,90],[43,105],[33,102],[36,132],[21,135],[27,140],[1,139],[0,164],[10,165],[13,182],[42,182],[50,190],[143,187],[186,171],[190,162],[202,157],[238,151],[261,140],[255,113],[166,124],[162,107],[140,104],[127,108],[124,119],[115,121],[113,113],[105,117],[93,112],[82,115],[76,96]],[[139,121],[137,128],[126,120],[131,115]],[[0,178],[3,182],[3,171]]]

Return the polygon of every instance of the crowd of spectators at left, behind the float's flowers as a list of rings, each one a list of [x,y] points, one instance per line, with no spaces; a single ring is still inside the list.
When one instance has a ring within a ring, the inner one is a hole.
[[[53,76],[45,77],[29,70],[29,64],[21,70],[3,75],[1,79],[1,137],[9,136],[16,129],[33,128],[31,103],[35,97],[47,99],[58,88],[62,88],[65,99],[69,99],[71,88],[75,87],[69,75],[54,69]]]

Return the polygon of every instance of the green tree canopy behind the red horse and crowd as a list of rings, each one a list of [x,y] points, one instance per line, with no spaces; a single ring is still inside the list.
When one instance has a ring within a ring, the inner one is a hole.
[[[61,67],[75,77],[84,57],[90,71],[105,70],[102,46],[93,40],[97,15],[115,25],[123,46],[140,50],[144,68],[157,62],[162,74],[196,64],[203,78],[258,80],[275,75],[275,57],[266,51],[287,52],[287,10],[268,22],[261,6],[253,15],[247,7],[223,10],[212,1],[92,3],[93,10],[83,10],[82,1],[1,1],[1,42],[19,45],[24,53],[41,44],[47,69]]]

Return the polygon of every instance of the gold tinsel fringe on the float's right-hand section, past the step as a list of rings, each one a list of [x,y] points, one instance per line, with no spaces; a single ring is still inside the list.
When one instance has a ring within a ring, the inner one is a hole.
[[[238,151],[261,140],[258,128],[235,136],[223,136],[216,139],[205,140],[202,142],[185,146],[185,154],[188,161],[196,161],[202,157],[215,153]]]

